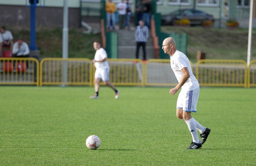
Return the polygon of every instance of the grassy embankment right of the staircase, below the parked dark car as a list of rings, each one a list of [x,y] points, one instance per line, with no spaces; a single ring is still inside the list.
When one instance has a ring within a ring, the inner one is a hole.
[[[187,33],[187,56],[196,62],[197,51],[206,59],[242,59],[247,61],[248,29],[205,29],[203,27],[162,27],[163,32]],[[253,30],[251,59],[256,59],[256,29]]]

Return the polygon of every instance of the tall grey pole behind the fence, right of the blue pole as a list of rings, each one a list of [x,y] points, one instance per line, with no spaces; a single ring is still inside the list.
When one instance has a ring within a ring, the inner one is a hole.
[[[63,5],[63,30],[62,30],[62,58],[67,59],[69,53],[69,8],[68,0],[64,0]],[[67,65],[66,61],[63,61],[63,83],[67,81]]]

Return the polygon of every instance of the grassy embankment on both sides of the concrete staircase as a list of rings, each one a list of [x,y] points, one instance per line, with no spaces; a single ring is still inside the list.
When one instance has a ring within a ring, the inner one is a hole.
[[[22,38],[30,41],[28,27],[12,28],[15,39]],[[203,27],[172,27],[163,26],[162,32],[187,33],[187,56],[196,62],[197,51],[206,53],[206,59],[242,59],[247,60],[248,29],[204,29]],[[93,41],[100,40],[100,34],[83,34],[79,28],[69,29],[69,57],[92,59],[95,50]],[[256,30],[253,30],[252,57],[256,59]],[[162,43],[159,43],[160,46]],[[36,45],[40,50],[40,57],[62,57],[62,28],[37,28]]]

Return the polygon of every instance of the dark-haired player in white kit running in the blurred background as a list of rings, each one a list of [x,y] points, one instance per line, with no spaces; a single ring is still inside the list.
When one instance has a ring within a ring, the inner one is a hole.
[[[95,94],[93,96],[90,96],[90,99],[98,99],[99,98],[99,83],[102,80],[104,85],[107,85],[111,87],[115,92],[115,99],[119,97],[119,90],[115,88],[115,86],[109,82],[109,70],[110,67],[108,65],[107,61],[107,53],[106,51],[101,47],[99,41],[95,41],[93,43],[93,48],[96,50],[93,63],[96,68],[95,74],[94,74],[94,89]]]

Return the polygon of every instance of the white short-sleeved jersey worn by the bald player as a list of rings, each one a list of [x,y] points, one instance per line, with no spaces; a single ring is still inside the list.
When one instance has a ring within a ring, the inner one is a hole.
[[[184,53],[176,50],[175,53],[173,54],[173,56],[170,57],[170,62],[171,62],[172,70],[173,70],[178,82],[181,81],[181,78],[183,76],[181,69],[186,68],[186,67],[188,68],[190,77],[188,78],[187,82],[184,83],[184,85],[181,87],[183,90],[190,91],[190,90],[194,90],[197,87],[199,87],[199,83],[192,72],[190,62]]]

